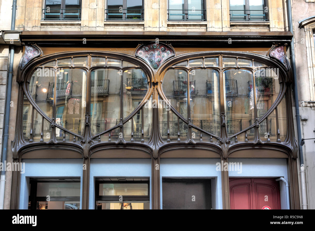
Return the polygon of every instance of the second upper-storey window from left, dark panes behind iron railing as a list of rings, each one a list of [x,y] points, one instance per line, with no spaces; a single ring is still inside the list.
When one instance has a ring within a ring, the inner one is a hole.
[[[143,0],[107,0],[105,20],[143,20]]]

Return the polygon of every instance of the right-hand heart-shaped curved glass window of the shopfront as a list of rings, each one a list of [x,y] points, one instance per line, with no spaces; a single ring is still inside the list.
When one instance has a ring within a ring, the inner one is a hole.
[[[191,119],[193,125],[210,134],[220,134],[223,112],[228,136],[232,136],[253,126],[276,102],[281,90],[278,72],[259,60],[209,56],[170,66],[163,76],[162,88],[170,104],[184,119]],[[279,107],[279,115],[280,112]],[[261,121],[262,127],[266,127],[264,123],[266,121]],[[286,126],[285,119],[279,118],[278,123],[279,129]],[[241,133],[236,141],[253,140],[254,130]]]

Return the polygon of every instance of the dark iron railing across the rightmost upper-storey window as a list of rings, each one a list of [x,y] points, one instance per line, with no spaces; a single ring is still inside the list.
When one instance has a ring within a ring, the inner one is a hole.
[[[230,10],[230,21],[268,21],[267,12],[260,10]]]

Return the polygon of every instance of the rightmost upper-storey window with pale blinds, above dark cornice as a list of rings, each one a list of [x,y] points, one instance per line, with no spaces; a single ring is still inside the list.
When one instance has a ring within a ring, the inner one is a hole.
[[[267,21],[265,0],[230,0],[231,21]]]

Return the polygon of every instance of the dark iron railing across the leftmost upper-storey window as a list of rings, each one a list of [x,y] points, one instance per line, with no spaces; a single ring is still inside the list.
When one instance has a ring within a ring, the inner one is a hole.
[[[81,20],[81,9],[42,9],[43,18],[42,20]]]

